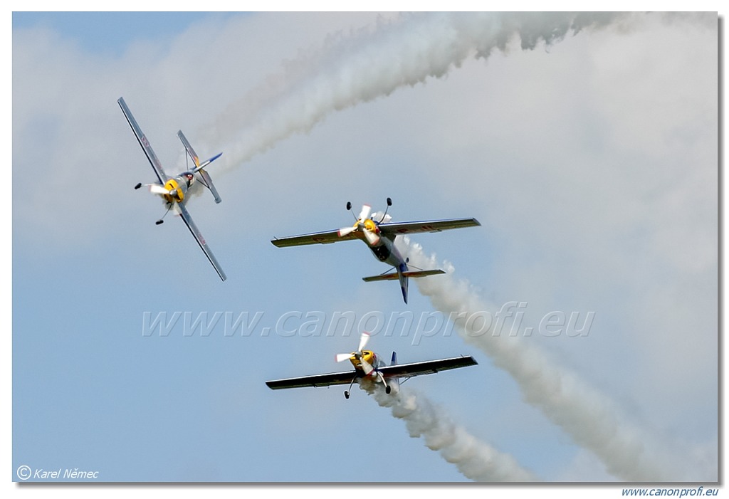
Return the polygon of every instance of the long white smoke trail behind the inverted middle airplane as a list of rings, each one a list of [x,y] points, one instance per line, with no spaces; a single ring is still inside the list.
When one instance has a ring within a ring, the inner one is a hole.
[[[406,237],[402,241],[407,245],[402,248],[403,254],[410,257],[413,266],[441,267],[434,256],[424,255],[420,245],[410,243]],[[452,267],[446,271],[447,275],[438,278],[417,280],[421,294],[428,296],[437,310],[449,316],[495,310],[481,302],[468,283],[453,279]],[[463,339],[487,353],[496,366],[518,382],[527,403],[537,406],[576,444],[599,457],[609,474],[631,482],[716,479],[709,474],[695,476],[705,472],[690,471],[693,463],[680,463],[676,449],[667,449],[665,442],[626,420],[609,398],[553,364],[534,345],[519,337],[472,331],[468,321],[456,321],[456,329]]]

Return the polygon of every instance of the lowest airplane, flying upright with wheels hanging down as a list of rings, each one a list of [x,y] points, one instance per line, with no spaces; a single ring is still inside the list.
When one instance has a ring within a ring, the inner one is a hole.
[[[337,355],[337,362],[350,361],[354,366],[354,371],[332,372],[329,374],[287,378],[286,380],[273,380],[267,381],[266,385],[271,390],[280,390],[281,388],[349,384],[349,388],[344,390],[344,398],[349,398],[349,390],[351,390],[356,380],[381,382],[385,386],[386,393],[391,393],[392,388],[395,388],[395,393],[397,393],[401,378],[410,378],[420,376],[421,374],[433,374],[447,369],[457,369],[459,367],[475,366],[478,364],[470,355],[467,357],[441,358],[437,361],[414,362],[413,364],[397,364],[397,354],[393,352],[390,365],[388,366],[374,352],[363,350],[364,345],[367,345],[368,339],[370,339],[370,335],[362,333],[356,352],[340,353]]]

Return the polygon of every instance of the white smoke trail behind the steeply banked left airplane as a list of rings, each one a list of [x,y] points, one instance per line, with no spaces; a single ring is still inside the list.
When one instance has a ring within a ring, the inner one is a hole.
[[[506,50],[515,37],[524,50],[534,49],[571,32],[635,18],[597,12],[469,12],[381,20],[371,30],[332,36],[320,52],[270,76],[206,127],[208,141],[232,141],[223,149],[226,165],[234,167],[293,133],[311,130],[333,111],[444,76],[467,58]]]

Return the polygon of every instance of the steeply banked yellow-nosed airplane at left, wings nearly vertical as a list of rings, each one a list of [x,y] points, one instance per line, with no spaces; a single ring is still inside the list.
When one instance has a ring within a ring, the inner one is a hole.
[[[131,111],[127,107],[127,104],[124,102],[124,98],[120,97],[117,102],[119,103],[120,108],[122,108],[122,113],[124,113],[124,116],[127,118],[130,127],[132,127],[134,135],[136,135],[141,149],[144,150],[144,154],[147,154],[147,160],[149,160],[149,164],[152,165],[152,170],[155,170],[157,178],[160,181],[159,184],[145,184],[146,186],[149,186],[149,192],[152,192],[152,194],[160,195],[160,197],[165,200],[165,204],[167,206],[167,211],[165,211],[165,215],[174,206],[176,211],[179,213],[179,216],[187,225],[187,228],[190,229],[190,232],[192,232],[192,237],[195,237],[195,240],[198,241],[198,244],[200,245],[200,248],[202,248],[203,253],[205,253],[205,256],[207,256],[208,260],[210,260],[210,263],[215,268],[215,271],[218,272],[218,275],[222,280],[225,280],[225,272],[223,272],[217,259],[215,259],[213,252],[210,251],[210,248],[208,248],[208,245],[205,242],[203,235],[200,233],[200,229],[198,229],[198,226],[196,226],[195,222],[192,221],[190,212],[188,212],[187,208],[185,208],[185,202],[187,201],[185,195],[187,195],[190,187],[195,182],[195,173],[198,173],[198,175],[200,176],[200,184],[203,184],[208,189],[210,189],[210,192],[212,192],[213,196],[215,197],[215,203],[220,203],[220,201],[222,201],[220,199],[220,196],[218,195],[217,189],[215,189],[215,186],[213,185],[213,181],[210,178],[210,175],[208,175],[208,172],[203,170],[203,168],[205,168],[211,162],[217,160],[222,152],[214,157],[211,157],[209,160],[200,163],[198,154],[195,154],[192,146],[190,146],[190,142],[187,141],[187,138],[185,138],[182,130],[179,130],[179,132],[177,132],[177,136],[182,141],[182,145],[184,145],[187,154],[190,154],[192,162],[195,163],[195,168],[180,173],[178,176],[168,176],[165,173],[165,170],[163,170],[162,168],[162,163],[159,159],[157,159],[157,155],[152,150],[152,146],[149,145],[147,137],[144,135],[144,132],[141,131],[139,125],[137,125],[136,119],[134,119]],[[141,186],[141,183],[136,184],[136,186],[134,186],[134,189],[139,189]],[[163,223],[163,219],[157,220],[156,223],[157,225]]]

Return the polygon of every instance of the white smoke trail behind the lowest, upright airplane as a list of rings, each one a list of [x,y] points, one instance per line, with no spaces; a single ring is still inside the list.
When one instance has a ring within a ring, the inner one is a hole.
[[[468,479],[477,482],[537,480],[513,457],[499,452],[453,423],[440,406],[421,393],[399,388],[398,393],[387,394],[381,385],[372,382],[363,382],[360,388],[373,395],[380,406],[390,407],[394,417],[405,420],[411,437],[422,436],[429,449],[439,451]]]

